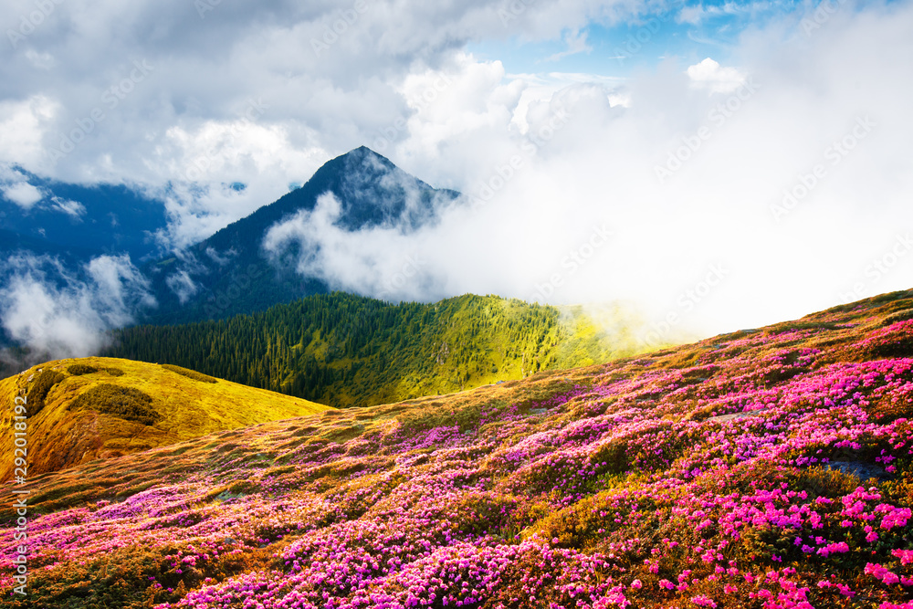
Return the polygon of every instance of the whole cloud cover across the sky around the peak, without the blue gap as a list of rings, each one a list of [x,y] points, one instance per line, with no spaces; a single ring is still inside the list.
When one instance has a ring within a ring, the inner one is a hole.
[[[159,238],[180,247],[367,144],[467,205],[411,234],[348,234],[324,200],[265,245],[305,240],[303,272],[390,299],[624,300],[657,333],[708,334],[910,287],[908,1],[785,4],[736,37],[624,75],[558,62],[513,73],[467,45],[553,40],[593,58],[606,47],[584,36],[592,24],[671,10],[645,29],[656,41],[719,11],[595,0],[209,6],[56,5],[0,50],[10,83],[0,160],[160,189],[172,222]],[[31,10],[16,0],[0,17],[16,29]],[[625,47],[620,61],[638,52]],[[52,154],[80,130],[72,152]]]

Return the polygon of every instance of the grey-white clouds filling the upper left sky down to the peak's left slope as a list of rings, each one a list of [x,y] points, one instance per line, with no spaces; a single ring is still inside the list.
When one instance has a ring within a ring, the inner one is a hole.
[[[572,0],[514,11],[501,0],[377,0],[318,53],[314,42],[352,2],[221,3],[201,16],[184,0],[68,0],[16,47],[0,47],[0,80],[9,85],[0,93],[0,161],[169,196],[172,224],[160,237],[185,247],[275,200],[332,156],[371,145],[398,121],[411,125],[421,111],[404,97],[404,83],[429,69],[458,71],[467,41],[564,33],[577,48],[585,46],[574,34],[582,26],[640,4]],[[505,25],[506,8],[516,14]],[[0,21],[16,24],[33,10],[30,0],[11,0],[0,5]],[[474,94],[456,91],[467,100]],[[268,109],[237,132],[250,100]],[[426,136],[458,137],[463,122],[488,121],[486,114],[464,112]],[[194,169],[198,163],[205,170]],[[188,178],[198,184],[182,184]],[[222,193],[232,182],[247,190]]]

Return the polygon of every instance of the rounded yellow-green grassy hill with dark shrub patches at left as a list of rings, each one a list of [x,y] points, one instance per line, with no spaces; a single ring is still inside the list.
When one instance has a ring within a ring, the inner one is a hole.
[[[59,360],[0,381],[0,452],[8,456],[16,396],[26,398],[30,476],[327,410],[180,368],[98,357]],[[0,463],[0,479],[9,478],[13,467],[12,457]]]

